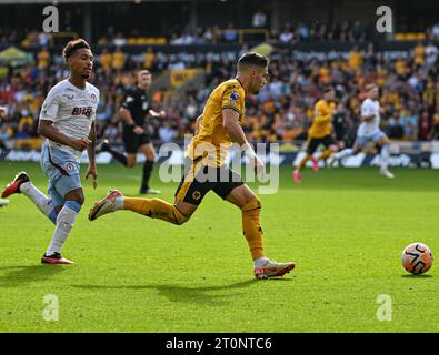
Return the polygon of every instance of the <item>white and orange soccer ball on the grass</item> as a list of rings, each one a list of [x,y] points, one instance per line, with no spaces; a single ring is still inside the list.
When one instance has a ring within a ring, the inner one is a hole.
[[[433,254],[422,243],[412,243],[402,252],[402,266],[409,273],[420,275],[429,271],[433,263]]]

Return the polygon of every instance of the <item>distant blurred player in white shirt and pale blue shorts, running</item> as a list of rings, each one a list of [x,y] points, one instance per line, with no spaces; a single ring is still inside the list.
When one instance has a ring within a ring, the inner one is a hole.
[[[381,149],[381,175],[392,179],[395,175],[388,169],[390,142],[386,133],[380,130],[381,109],[378,100],[379,89],[376,84],[369,84],[366,87],[366,90],[367,99],[361,104],[361,124],[357,131],[357,140],[353,144],[353,149],[345,149],[337,154],[333,154],[330,163],[332,164],[336,160],[342,160],[347,156],[356,155],[365,149],[366,144],[373,142]]]

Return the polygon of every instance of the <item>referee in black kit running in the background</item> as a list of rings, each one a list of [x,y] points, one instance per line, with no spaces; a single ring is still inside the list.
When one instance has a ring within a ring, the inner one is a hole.
[[[137,73],[137,87],[127,90],[123,103],[119,110],[123,118],[123,145],[127,154],[111,149],[107,139],[97,148],[99,152],[109,152],[127,168],[133,168],[136,165],[138,152],[144,154],[146,162],[143,164],[143,176],[140,187],[141,194],[160,193],[160,191],[152,190],[149,186],[156,152],[148,132],[144,131],[144,120],[148,114],[163,119],[166,113],[164,111],[156,112],[149,109],[147,91],[151,83],[151,73],[148,70],[139,71]]]

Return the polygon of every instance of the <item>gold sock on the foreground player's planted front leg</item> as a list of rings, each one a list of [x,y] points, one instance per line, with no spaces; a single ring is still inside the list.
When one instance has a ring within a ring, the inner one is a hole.
[[[251,257],[257,260],[263,253],[262,227],[260,224],[261,202],[258,197],[250,200],[242,209],[242,230],[250,247]]]

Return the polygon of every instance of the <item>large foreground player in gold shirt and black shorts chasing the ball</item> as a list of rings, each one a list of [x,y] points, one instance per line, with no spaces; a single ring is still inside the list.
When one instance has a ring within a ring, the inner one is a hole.
[[[248,143],[243,124],[246,93],[257,94],[267,82],[268,59],[245,53],[238,61],[238,73],[219,84],[210,94],[203,113],[197,119],[196,134],[186,151],[187,170],[176,192],[174,203],[159,199],[130,199],[118,190],[94,204],[90,221],[118,210],[129,210],[152,219],[183,224],[209,191],[235,204],[242,212],[243,235],[253,260],[255,276],[283,276],[296,264],[277,263],[266,257],[260,225],[261,202],[241,178],[225,164],[232,142],[238,143],[257,172],[263,164]],[[221,179],[222,178],[222,179]]]

